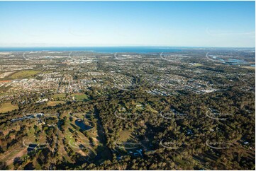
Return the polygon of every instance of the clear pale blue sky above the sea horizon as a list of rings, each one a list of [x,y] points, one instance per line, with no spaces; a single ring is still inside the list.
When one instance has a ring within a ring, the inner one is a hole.
[[[1,47],[255,47],[255,1],[0,1]]]

